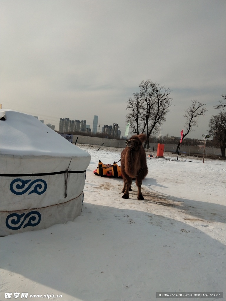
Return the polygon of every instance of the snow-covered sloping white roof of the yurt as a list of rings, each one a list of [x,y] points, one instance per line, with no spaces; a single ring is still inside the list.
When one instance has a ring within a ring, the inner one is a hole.
[[[90,157],[34,116],[0,109],[0,154],[16,156]]]

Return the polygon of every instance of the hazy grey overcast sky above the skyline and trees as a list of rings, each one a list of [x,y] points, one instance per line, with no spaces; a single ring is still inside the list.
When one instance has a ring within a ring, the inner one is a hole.
[[[226,93],[226,1],[0,0],[0,103],[52,123],[98,115],[125,133],[126,102],[151,79],[172,90],[162,135],[180,136],[191,100]]]

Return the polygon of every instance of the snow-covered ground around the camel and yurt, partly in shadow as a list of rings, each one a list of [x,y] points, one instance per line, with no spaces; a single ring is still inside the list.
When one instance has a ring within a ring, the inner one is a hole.
[[[81,216],[0,237],[0,301],[5,293],[148,301],[156,292],[223,292],[226,300],[226,161],[147,158],[145,200],[137,200],[135,183],[125,200],[121,179],[93,174],[99,160],[112,164],[121,150],[78,146],[92,157]]]

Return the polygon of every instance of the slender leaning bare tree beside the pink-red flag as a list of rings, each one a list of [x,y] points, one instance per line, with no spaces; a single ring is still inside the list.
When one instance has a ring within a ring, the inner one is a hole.
[[[199,117],[205,115],[204,113],[208,111],[206,107],[204,107],[206,104],[196,100],[192,100],[191,102],[192,105],[187,110],[185,110],[186,114],[183,115],[185,117],[184,127],[187,130],[187,132],[183,134],[182,141],[184,137],[187,136],[188,133],[194,131],[193,127],[197,126]],[[177,145],[176,153],[178,153],[179,147],[180,147],[180,142]]]

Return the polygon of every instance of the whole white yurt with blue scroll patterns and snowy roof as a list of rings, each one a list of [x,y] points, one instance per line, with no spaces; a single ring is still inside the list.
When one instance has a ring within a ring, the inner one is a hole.
[[[79,216],[90,159],[34,116],[0,109],[0,236]]]

